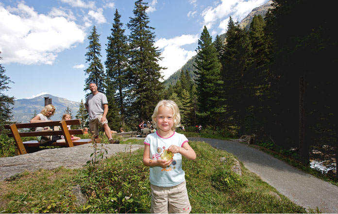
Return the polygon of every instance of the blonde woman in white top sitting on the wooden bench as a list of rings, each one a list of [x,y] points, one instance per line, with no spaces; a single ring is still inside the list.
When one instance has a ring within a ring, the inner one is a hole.
[[[42,108],[41,112],[38,113],[34,118],[32,118],[31,123],[39,123],[39,122],[48,122],[52,121],[51,116],[55,113],[55,107],[53,105],[47,105]],[[54,127],[36,127],[35,131],[43,131],[43,130],[53,130]],[[37,136],[37,141],[40,143],[47,143],[47,142],[55,142],[61,139],[60,136]]]

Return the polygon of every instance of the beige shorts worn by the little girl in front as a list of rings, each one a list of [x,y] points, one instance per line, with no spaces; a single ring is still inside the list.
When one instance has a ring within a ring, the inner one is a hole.
[[[171,187],[158,187],[151,184],[151,188],[150,213],[190,213],[186,181]]]

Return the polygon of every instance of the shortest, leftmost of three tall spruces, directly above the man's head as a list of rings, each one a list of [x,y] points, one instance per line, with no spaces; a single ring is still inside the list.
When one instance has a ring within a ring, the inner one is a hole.
[[[98,90],[102,93],[105,92],[106,80],[104,77],[104,69],[101,63],[101,44],[97,34],[95,25],[93,26],[91,34],[88,36],[89,45],[87,46],[86,63],[89,62],[89,67],[84,70],[88,78],[85,79],[84,91],[89,89],[90,83],[95,83]],[[87,94],[89,95],[89,93]]]

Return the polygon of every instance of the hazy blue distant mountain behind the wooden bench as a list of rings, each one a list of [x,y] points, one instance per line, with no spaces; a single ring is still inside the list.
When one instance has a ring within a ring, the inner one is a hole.
[[[52,105],[55,107],[55,114],[51,117],[51,120],[61,120],[62,115],[65,113],[67,107],[69,107],[72,111],[73,119],[75,119],[75,115],[79,110],[80,103],[69,101],[65,98],[55,97],[51,94],[43,94],[38,97],[34,97],[32,99],[18,99],[15,100],[13,106],[12,121],[17,121],[18,123],[29,123],[29,121],[33,118],[34,110],[36,113],[40,113],[42,108],[45,106],[44,97],[49,97],[52,100]]]

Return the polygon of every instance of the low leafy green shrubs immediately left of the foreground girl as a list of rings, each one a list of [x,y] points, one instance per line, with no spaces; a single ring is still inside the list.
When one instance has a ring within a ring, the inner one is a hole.
[[[140,154],[141,155],[141,154]],[[121,157],[123,156],[123,157]],[[140,156],[122,154],[104,168],[84,169],[79,178],[92,213],[146,213],[150,209],[149,168]],[[145,206],[147,205],[147,206]],[[83,211],[82,211],[83,212]]]

